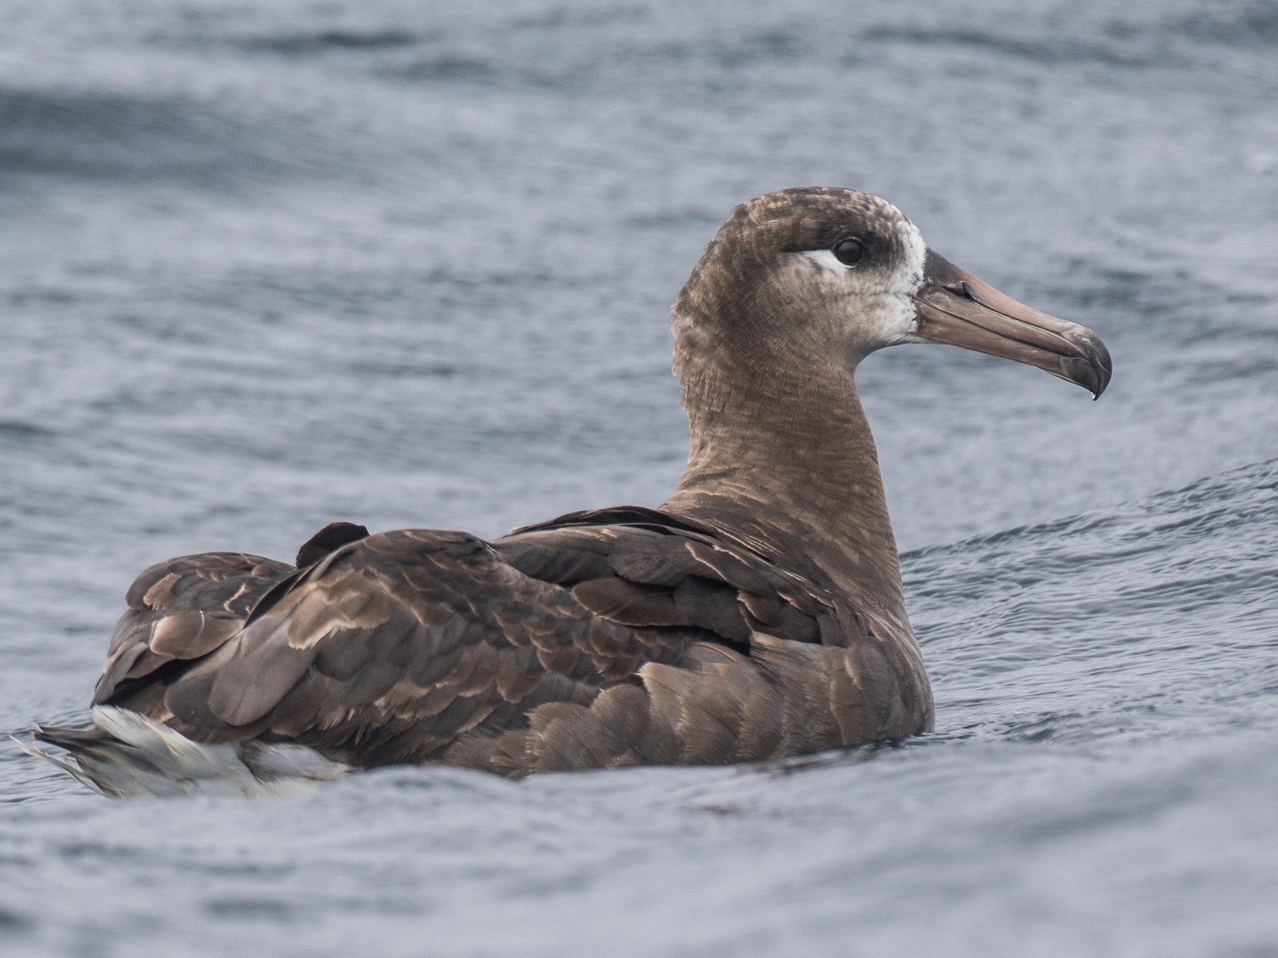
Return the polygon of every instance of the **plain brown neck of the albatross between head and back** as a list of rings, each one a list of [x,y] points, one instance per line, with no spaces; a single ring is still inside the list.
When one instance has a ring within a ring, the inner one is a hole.
[[[698,359],[695,349],[679,359],[691,436],[662,508],[906,625],[878,453],[850,368],[829,356],[768,368]]]

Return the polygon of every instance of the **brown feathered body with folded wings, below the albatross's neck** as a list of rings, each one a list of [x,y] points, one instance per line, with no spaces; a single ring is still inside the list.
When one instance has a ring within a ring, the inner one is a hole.
[[[651,510],[566,520],[493,543],[340,524],[300,572],[239,553],[161,563],[130,590],[104,683],[137,673],[129,706],[202,742],[506,775],[751,761],[924,726],[919,663],[838,597]]]

